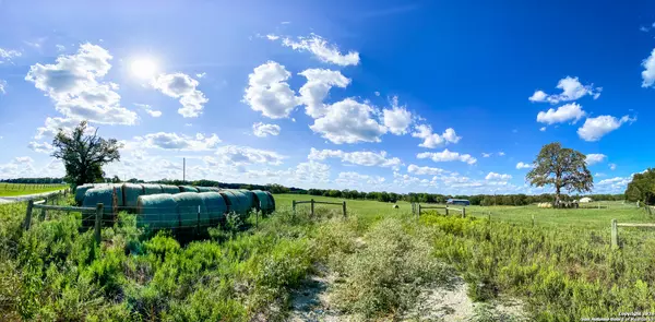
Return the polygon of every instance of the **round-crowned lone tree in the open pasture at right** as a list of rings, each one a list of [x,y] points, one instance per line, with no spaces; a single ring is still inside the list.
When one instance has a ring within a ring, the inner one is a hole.
[[[560,203],[562,188],[582,193],[594,187],[592,172],[586,168],[586,156],[562,147],[559,142],[544,145],[533,165],[525,179],[536,187],[553,186],[556,204]]]

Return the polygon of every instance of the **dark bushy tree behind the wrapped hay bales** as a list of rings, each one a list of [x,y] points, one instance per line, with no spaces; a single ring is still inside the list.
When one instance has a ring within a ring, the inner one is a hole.
[[[103,180],[103,166],[120,160],[118,150],[122,144],[116,139],[99,138],[97,129],[93,135],[87,135],[86,127],[86,121],[82,121],[72,133],[59,129],[52,140],[52,156],[63,162],[66,180],[75,187]]]

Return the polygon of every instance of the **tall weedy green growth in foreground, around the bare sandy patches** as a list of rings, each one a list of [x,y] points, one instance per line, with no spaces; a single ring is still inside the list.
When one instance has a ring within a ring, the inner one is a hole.
[[[1,205],[0,320],[284,321],[318,265],[338,276],[325,290],[335,308],[364,321],[398,319],[424,287],[453,274],[474,300],[522,299],[531,321],[655,310],[651,231],[626,231],[615,251],[600,224],[417,220],[404,204],[368,201],[347,201],[346,220],[337,206],[317,206],[310,219],[302,207],[291,214],[291,199],[300,198],[276,195],[278,211],[259,228],[231,218],[183,246],[140,231],[129,215],[104,229],[100,246],[78,234],[80,214],[52,213],[23,232],[25,205]]]

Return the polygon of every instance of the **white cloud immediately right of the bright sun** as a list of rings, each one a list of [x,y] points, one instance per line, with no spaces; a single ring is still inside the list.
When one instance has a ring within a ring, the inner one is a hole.
[[[183,73],[162,74],[153,80],[152,85],[164,95],[179,98],[181,108],[178,112],[184,118],[196,118],[202,114],[204,104],[210,102],[198,90],[200,83]]]

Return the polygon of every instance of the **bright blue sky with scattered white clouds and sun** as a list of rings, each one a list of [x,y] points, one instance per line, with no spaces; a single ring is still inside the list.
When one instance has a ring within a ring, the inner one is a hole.
[[[553,141],[595,192],[652,166],[655,3],[240,2],[0,1],[0,177],[61,176],[82,118],[122,178],[540,193]]]

